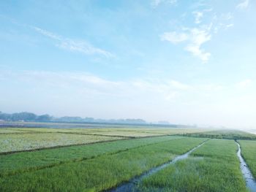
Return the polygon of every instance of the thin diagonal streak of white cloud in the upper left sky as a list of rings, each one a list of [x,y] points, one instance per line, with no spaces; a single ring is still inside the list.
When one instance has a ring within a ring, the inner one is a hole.
[[[56,46],[60,47],[64,50],[84,53],[86,55],[103,55],[106,58],[113,58],[115,55],[113,53],[110,53],[106,50],[102,50],[98,47],[94,47],[93,45],[89,44],[89,42],[83,41],[83,40],[74,40],[74,39],[68,39],[61,37],[58,34],[53,34],[50,31],[47,31],[42,28],[38,27],[31,27],[35,31],[37,31],[39,34],[44,35],[45,37],[49,37],[50,39],[53,39],[57,42]]]

